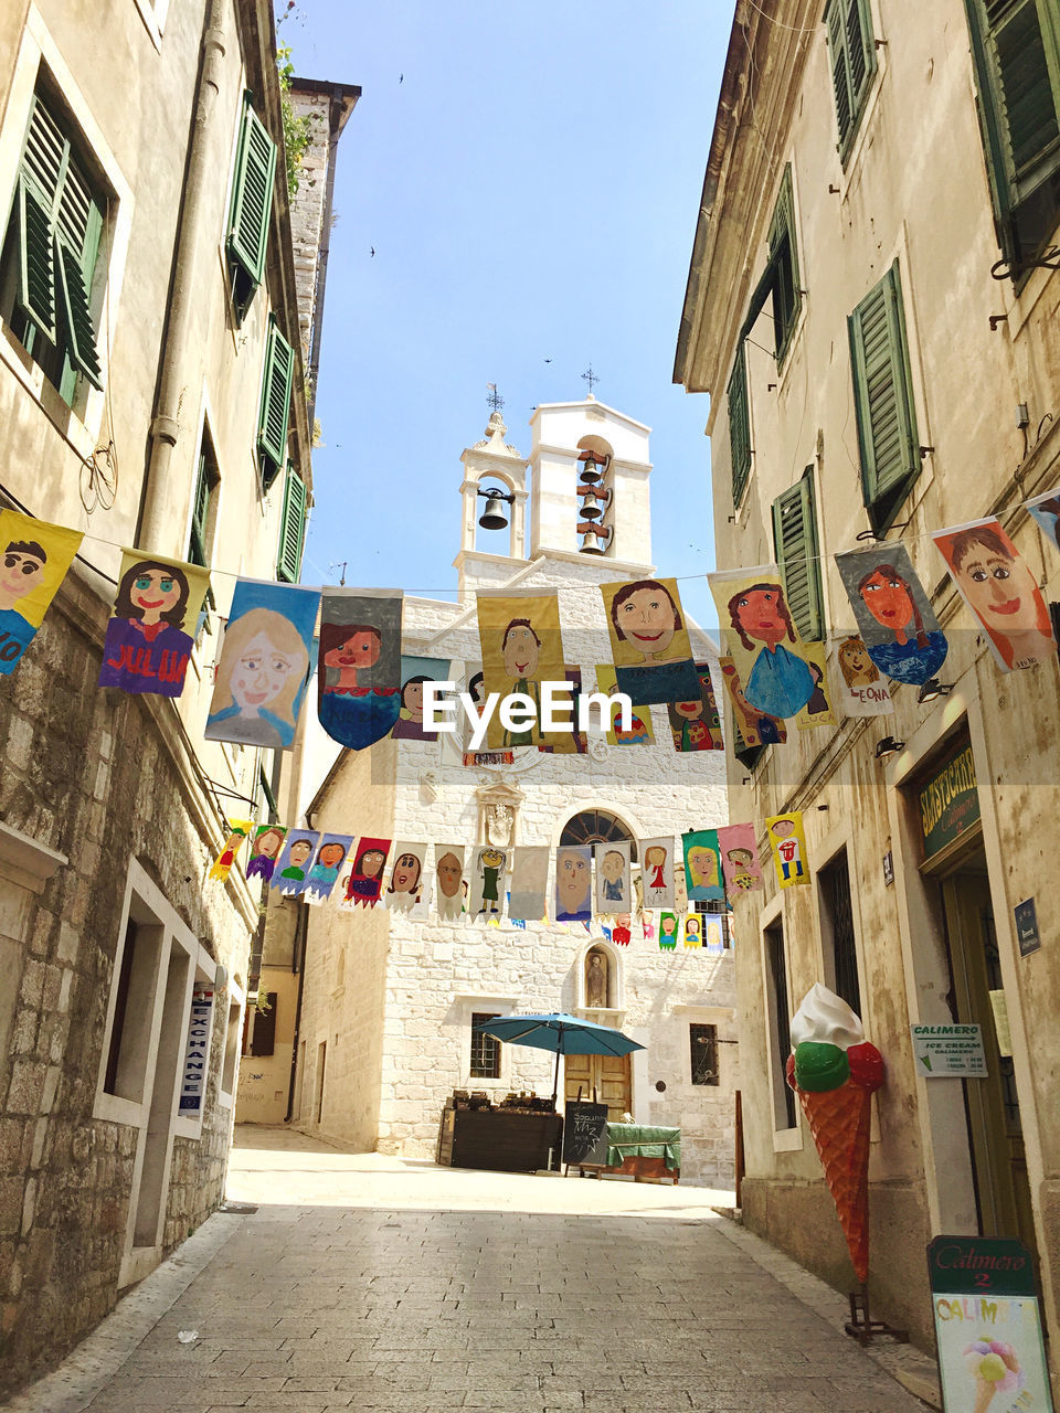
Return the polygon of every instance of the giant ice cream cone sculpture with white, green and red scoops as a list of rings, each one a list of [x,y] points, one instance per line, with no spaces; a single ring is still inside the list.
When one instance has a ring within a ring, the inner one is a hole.
[[[869,1279],[869,1105],[883,1057],[845,1000],[817,982],[791,1017],[787,1082],[799,1095],[854,1273]],[[978,1413],[978,1410],[977,1410]]]

